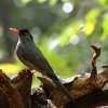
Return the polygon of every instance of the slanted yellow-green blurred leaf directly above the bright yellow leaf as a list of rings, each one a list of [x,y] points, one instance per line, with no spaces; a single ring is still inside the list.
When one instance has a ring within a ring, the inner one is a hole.
[[[86,14],[85,19],[95,21],[97,16],[99,15],[99,13],[100,13],[100,9],[93,9]]]

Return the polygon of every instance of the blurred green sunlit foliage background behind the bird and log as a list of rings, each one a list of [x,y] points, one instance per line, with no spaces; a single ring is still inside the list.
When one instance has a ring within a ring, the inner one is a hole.
[[[29,29],[59,76],[91,72],[91,44],[103,48],[98,70],[108,63],[108,0],[1,0],[0,69],[13,76],[25,66],[10,27]]]

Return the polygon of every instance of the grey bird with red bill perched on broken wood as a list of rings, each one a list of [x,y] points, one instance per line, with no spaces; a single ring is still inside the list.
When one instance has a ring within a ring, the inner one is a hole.
[[[73,96],[69,91],[59,82],[53,68],[43,56],[42,52],[38,49],[28,29],[10,28],[10,30],[18,35],[18,42],[16,45],[16,55],[19,60],[27,67],[40,71],[42,75],[49,77],[56,85],[56,87],[63,92],[69,100],[73,100]]]

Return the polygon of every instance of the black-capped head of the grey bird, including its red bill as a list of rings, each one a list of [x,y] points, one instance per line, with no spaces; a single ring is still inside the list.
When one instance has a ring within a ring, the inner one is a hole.
[[[15,29],[15,28],[10,28],[10,30],[16,35],[19,36],[21,41],[32,41],[32,36],[30,35],[28,29]]]

